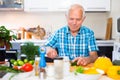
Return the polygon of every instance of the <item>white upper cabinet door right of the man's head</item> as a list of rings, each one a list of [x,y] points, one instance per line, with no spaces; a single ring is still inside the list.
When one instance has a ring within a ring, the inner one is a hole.
[[[84,0],[85,11],[110,11],[110,0]]]

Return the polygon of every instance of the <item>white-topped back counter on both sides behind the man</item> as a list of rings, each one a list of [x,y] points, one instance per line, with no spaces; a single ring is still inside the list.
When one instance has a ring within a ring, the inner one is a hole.
[[[11,41],[13,47],[12,49],[16,49],[19,53],[21,53],[21,45],[23,45],[25,42],[33,42],[37,46],[44,45],[46,40],[38,40],[38,39],[22,39],[22,40],[15,40]],[[112,51],[113,51],[113,46],[114,46],[114,40],[96,40],[96,43],[99,47],[98,53],[99,55],[104,55],[105,53],[106,56],[110,57],[112,60]],[[109,53],[109,54],[106,54]]]

